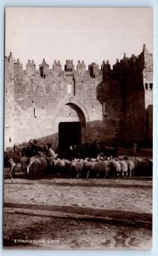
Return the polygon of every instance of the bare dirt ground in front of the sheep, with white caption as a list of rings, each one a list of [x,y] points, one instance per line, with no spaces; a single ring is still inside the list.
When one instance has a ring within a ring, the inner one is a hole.
[[[4,248],[150,249],[152,179],[4,179]]]

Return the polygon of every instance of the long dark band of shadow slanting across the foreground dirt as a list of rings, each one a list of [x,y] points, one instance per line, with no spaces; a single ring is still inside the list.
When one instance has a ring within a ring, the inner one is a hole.
[[[26,209],[31,211],[47,211],[47,212],[65,212],[73,214],[73,217],[67,215],[62,218],[81,218],[82,220],[90,220],[97,222],[108,222],[110,224],[127,224],[127,225],[139,225],[139,227],[151,228],[152,226],[152,214],[151,213],[140,213],[140,212],[127,212],[118,210],[104,210],[104,209],[93,209],[87,207],[70,207],[70,206],[49,206],[49,205],[35,205],[35,204],[14,204],[14,203],[4,203],[3,207],[14,208],[14,212],[21,214],[21,212],[16,212],[16,209]],[[14,214],[10,212],[10,214]],[[22,212],[22,214],[33,215],[42,217],[45,215],[35,212]],[[79,215],[79,216],[77,216]],[[48,218],[52,217],[52,214],[47,214]],[[53,216],[54,217],[54,216]]]

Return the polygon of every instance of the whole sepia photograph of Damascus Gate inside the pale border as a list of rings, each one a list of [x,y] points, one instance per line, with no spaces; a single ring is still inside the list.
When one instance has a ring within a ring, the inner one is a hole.
[[[5,9],[3,248],[152,248],[153,9]]]

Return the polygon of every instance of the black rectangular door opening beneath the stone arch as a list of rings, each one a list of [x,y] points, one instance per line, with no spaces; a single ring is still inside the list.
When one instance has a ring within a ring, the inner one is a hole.
[[[71,145],[81,144],[81,123],[62,122],[59,123],[59,149],[64,150]]]

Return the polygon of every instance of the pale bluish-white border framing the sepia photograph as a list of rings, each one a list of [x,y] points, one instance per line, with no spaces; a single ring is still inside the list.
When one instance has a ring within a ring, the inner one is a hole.
[[[134,251],[134,250],[100,250],[100,251],[42,251],[42,250],[3,250],[3,61],[4,61],[4,8],[10,7],[153,7],[154,9],[154,226],[153,226],[153,249],[151,251]],[[158,255],[158,140],[156,131],[158,131],[158,1],[157,0],[1,0],[0,1],[0,254],[4,255],[42,255],[42,253],[55,254],[55,255],[71,255],[71,254],[89,254],[89,255]],[[156,170],[157,169],[157,170]],[[157,187],[157,188],[156,188]]]

